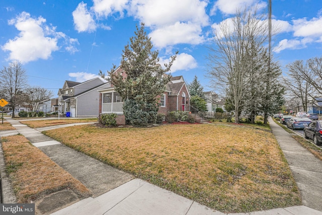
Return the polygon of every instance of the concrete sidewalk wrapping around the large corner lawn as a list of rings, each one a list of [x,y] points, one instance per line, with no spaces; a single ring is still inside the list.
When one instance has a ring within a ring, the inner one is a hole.
[[[19,132],[20,134],[25,135],[35,147],[38,147],[40,150],[42,150],[49,158],[51,158],[64,170],[69,172],[74,178],[81,181],[93,192],[92,197],[78,201],[52,214],[226,214],[210,209],[193,200],[159,188],[143,180],[134,179],[134,177],[130,174],[119,171],[89,156],[65,147],[64,145],[60,144],[60,142],[43,135],[39,131],[43,129],[36,130],[30,128],[12,118],[7,118],[7,121],[16,127],[17,133]],[[286,131],[284,131],[283,128],[275,124],[286,134],[283,133],[278,127],[274,126],[275,122],[272,121],[270,123],[272,125],[273,133],[275,135],[282,135],[278,141],[281,145],[281,148],[286,150],[286,154],[300,152],[301,149],[298,147],[295,148],[294,146],[296,146],[296,144],[294,144],[294,142],[292,142],[290,139],[288,142],[284,141],[284,139],[286,139],[285,136],[290,138],[292,137]],[[59,125],[56,127],[64,126],[66,125]],[[0,135],[2,136],[3,133],[0,132]],[[307,151],[306,153],[302,152],[300,154],[303,153],[304,156],[308,156]],[[288,156],[285,155],[285,157]],[[301,163],[304,161],[305,159],[297,162],[300,164],[300,166],[306,167],[306,169],[302,168],[301,171],[312,171],[307,170],[311,165]],[[320,165],[320,161],[314,162],[316,162],[317,166]],[[293,165],[290,166],[291,169],[298,168],[293,167]],[[319,167],[321,168],[321,166]],[[293,174],[300,172],[299,169],[297,169],[297,172],[294,172],[293,169],[292,171]],[[319,173],[321,172],[322,171],[319,171]],[[315,181],[318,179],[319,178],[316,178]],[[303,180],[303,178],[301,178],[301,180]],[[313,178],[310,180],[313,180]],[[297,181],[297,183],[299,184],[301,182]],[[300,188],[301,193],[306,193],[306,188],[307,186],[302,186],[302,189]],[[317,186],[316,188],[320,187]],[[317,191],[319,192],[320,190],[318,189]],[[320,192],[320,194],[321,193],[322,192]],[[321,210],[319,209],[320,205],[315,205],[315,202],[310,199],[308,194],[302,194],[302,196],[303,203],[306,206],[302,205],[251,213],[229,214],[322,214],[322,212],[319,211]],[[316,197],[317,196],[318,195],[316,195]],[[52,200],[41,202],[43,203],[42,208],[46,208],[44,206],[46,204],[52,204],[51,201]],[[55,209],[52,209],[52,211],[55,211]],[[50,211],[43,212],[50,214]]]

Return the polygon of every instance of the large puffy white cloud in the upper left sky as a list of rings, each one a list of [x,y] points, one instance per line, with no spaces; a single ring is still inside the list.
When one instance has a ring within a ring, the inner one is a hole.
[[[10,51],[8,60],[19,60],[22,63],[37,59],[48,59],[53,51],[57,51],[58,40],[63,39],[63,46],[67,51],[75,52],[76,39],[72,39],[62,32],[56,32],[56,27],[45,25],[42,17],[32,18],[29,13],[22,12],[15,19],[9,20],[19,31],[19,36],[9,40],[2,49]]]

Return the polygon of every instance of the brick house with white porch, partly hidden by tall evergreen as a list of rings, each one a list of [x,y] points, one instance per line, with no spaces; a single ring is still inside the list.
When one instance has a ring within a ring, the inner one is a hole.
[[[121,73],[118,67],[115,71]],[[166,75],[168,76],[168,75]],[[100,114],[116,113],[117,124],[125,124],[125,116],[123,115],[123,99],[110,85],[108,88],[99,90],[100,92]],[[187,85],[182,76],[172,77],[171,81],[166,85],[165,92],[160,95],[160,107],[158,113],[168,115],[170,111],[189,111],[190,110],[190,94]]]

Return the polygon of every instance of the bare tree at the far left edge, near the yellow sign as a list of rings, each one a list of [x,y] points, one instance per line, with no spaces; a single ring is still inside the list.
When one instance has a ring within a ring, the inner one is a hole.
[[[17,98],[27,84],[26,70],[22,67],[21,62],[14,61],[8,67],[4,66],[0,74],[0,83],[12,107],[12,117],[15,117]]]

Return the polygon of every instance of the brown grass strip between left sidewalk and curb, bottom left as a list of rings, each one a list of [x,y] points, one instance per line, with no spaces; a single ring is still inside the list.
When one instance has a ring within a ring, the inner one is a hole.
[[[6,170],[17,200],[26,203],[46,194],[72,189],[79,197],[90,191],[69,173],[32,146],[23,135],[2,138]]]

